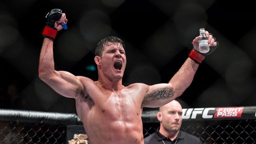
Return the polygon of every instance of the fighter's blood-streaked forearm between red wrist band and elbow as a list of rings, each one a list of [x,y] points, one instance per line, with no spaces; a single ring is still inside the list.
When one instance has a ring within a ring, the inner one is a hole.
[[[39,77],[45,77],[54,72],[53,61],[53,41],[49,38],[44,38],[39,59]]]

